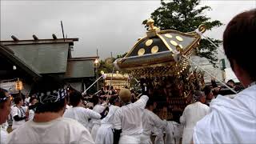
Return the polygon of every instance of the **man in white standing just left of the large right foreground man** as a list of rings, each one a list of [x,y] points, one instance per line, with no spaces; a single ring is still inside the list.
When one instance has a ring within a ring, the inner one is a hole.
[[[182,144],[190,144],[192,142],[194,126],[209,113],[209,106],[203,104],[206,102],[205,94],[201,91],[195,91],[193,98],[195,102],[186,106],[180,118],[180,122],[184,125]]]

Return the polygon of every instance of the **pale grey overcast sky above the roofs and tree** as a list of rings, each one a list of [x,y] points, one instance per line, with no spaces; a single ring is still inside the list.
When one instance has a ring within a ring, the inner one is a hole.
[[[224,24],[243,10],[256,7],[256,1],[202,1],[211,6],[206,12]],[[123,54],[129,51],[138,38],[145,35],[142,21],[160,6],[160,1],[1,1],[1,40],[62,38],[60,21],[68,38],[79,38],[74,43],[73,56],[110,57],[112,51]],[[206,32],[211,38],[222,38],[225,26]]]

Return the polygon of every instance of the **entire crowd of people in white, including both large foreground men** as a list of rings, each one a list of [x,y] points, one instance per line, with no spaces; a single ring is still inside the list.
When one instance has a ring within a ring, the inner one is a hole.
[[[213,80],[204,92],[194,91],[194,102],[183,110],[180,123],[159,118],[154,101],[146,94],[136,98],[128,89],[102,90],[85,102],[82,93],[67,90],[62,80],[43,76],[24,99],[12,99],[7,90],[0,89],[0,142],[150,144],[179,143],[182,138],[182,143],[254,143],[256,69],[250,63],[254,55],[247,51],[254,46],[255,33],[254,9],[235,16],[223,35],[230,66],[246,89],[229,81],[238,94],[215,98],[223,91]],[[243,54],[246,58],[241,58]],[[12,120],[9,134],[8,116]]]

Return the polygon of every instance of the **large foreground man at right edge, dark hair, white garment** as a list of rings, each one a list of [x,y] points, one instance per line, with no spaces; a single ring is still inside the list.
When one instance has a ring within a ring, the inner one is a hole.
[[[254,66],[256,9],[242,12],[226,26],[223,48],[245,90],[231,99],[218,95],[210,114],[194,128],[194,143],[256,142],[256,68]]]

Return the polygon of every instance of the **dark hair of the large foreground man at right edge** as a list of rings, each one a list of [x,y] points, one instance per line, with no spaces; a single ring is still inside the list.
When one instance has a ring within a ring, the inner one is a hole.
[[[226,26],[223,34],[223,47],[231,68],[234,69],[234,62],[236,62],[254,81],[256,67],[252,66],[251,62],[255,54],[251,50],[255,46],[255,34],[256,9],[236,15]]]

